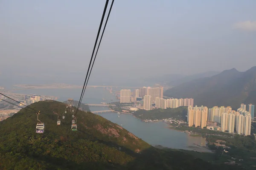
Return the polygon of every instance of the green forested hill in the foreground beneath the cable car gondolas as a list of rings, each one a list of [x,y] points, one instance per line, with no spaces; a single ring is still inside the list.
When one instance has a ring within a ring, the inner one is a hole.
[[[21,109],[0,122],[1,170],[236,170],[180,151],[156,149],[90,112],[79,111],[78,131],[71,131],[70,111],[57,125],[57,116],[66,108],[61,102],[41,101],[29,107],[41,111],[45,132],[35,133],[37,115],[33,111]]]

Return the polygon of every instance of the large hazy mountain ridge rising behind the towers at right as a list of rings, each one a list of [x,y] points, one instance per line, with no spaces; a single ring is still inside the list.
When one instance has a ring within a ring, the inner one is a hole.
[[[234,109],[241,103],[256,104],[256,66],[239,72],[235,68],[222,71],[212,77],[185,82],[164,92],[175,98],[194,98],[195,105],[231,106]]]

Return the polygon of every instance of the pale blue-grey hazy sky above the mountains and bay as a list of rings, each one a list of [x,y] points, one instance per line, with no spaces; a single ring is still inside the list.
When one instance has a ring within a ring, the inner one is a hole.
[[[0,0],[0,73],[85,73],[104,5]],[[92,76],[245,71],[256,65],[255,7],[256,0],[115,0]]]

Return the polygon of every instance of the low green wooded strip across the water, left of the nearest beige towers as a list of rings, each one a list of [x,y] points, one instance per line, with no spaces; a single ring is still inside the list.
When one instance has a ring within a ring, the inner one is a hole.
[[[188,108],[179,107],[179,108],[167,108],[167,109],[154,109],[151,111],[138,110],[134,112],[134,116],[140,119],[166,119],[166,118],[175,118],[186,121]]]

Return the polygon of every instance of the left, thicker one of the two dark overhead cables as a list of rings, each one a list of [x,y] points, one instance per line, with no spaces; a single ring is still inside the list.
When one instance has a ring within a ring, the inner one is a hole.
[[[80,99],[79,99],[79,103],[78,103],[78,106],[77,106],[77,109],[76,109],[76,113],[78,112],[79,107],[81,105],[82,95],[83,95],[83,92],[84,92],[85,83],[86,83],[86,80],[87,80],[87,77],[88,77],[88,74],[89,74],[90,65],[92,63],[94,51],[95,51],[95,48],[96,48],[96,45],[97,45],[97,42],[98,42],[98,39],[99,39],[99,33],[100,33],[100,30],[101,30],[101,27],[102,27],[102,23],[103,23],[103,20],[104,20],[104,17],[105,17],[105,13],[106,13],[106,10],[107,10],[107,7],[108,7],[108,1],[109,0],[106,0],[106,3],[105,3],[105,8],[104,8],[104,11],[103,11],[103,14],[102,14],[102,19],[101,19],[101,22],[100,22],[100,25],[99,25],[98,34],[97,34],[97,37],[96,37],[96,40],[95,40],[95,44],[94,44],[94,47],[93,47],[93,53],[92,53],[92,56],[91,56],[91,59],[90,59],[90,63],[89,63],[89,67],[88,67],[88,70],[87,70],[87,74],[86,74],[86,77],[85,77],[85,80],[84,80],[84,86],[83,86],[82,93],[81,93],[81,96],[80,96]],[[75,113],[75,115],[76,115],[76,113]]]

